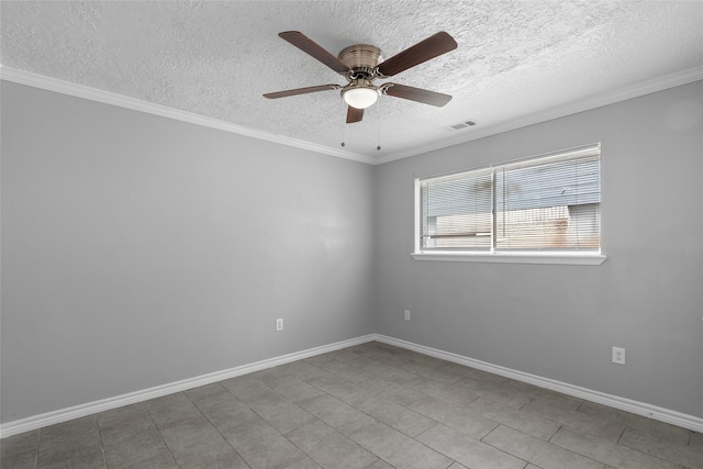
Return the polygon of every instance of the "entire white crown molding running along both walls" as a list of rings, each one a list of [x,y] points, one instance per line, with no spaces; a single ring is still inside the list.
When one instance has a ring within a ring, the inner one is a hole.
[[[601,108],[603,105],[614,104],[616,102],[625,101],[652,92],[662,91],[693,81],[703,80],[703,66],[623,87],[613,91],[607,91],[583,100],[551,108],[535,114],[524,115],[483,129],[471,130],[468,134],[465,134],[461,137],[444,139],[442,142],[436,142],[429,145],[423,145],[406,150],[390,153],[380,157],[366,156],[354,152],[347,152],[324,145],[313,144],[311,142],[305,142],[298,138],[261,132],[254,129],[245,127],[243,125],[237,125],[217,119],[194,114],[192,112],[181,111],[166,105],[142,101],[135,98],[86,87],[83,85],[76,85],[68,81],[58,80],[56,78],[45,77],[43,75],[18,70],[7,66],[0,66],[0,79],[63,94],[74,96],[77,98],[89,99],[91,101],[102,102],[104,104],[118,105],[134,111],[146,112],[149,114],[188,122],[196,125],[202,125],[205,127],[231,132],[234,134],[258,138],[267,142],[274,142],[295,148],[306,149],[314,153],[321,153],[338,158],[365,163],[367,165],[382,165],[384,163],[394,161],[397,159],[408,158],[449,146],[460,145],[467,142],[484,138],[503,132],[514,131],[528,125],[539,124],[542,122],[551,121],[554,119],[577,114],[579,112],[589,111],[591,109]]]

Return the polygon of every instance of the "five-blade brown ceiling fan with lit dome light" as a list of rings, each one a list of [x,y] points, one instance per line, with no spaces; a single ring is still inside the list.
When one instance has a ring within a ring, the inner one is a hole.
[[[381,60],[380,48],[368,44],[357,44],[346,47],[335,57],[299,31],[284,31],[278,35],[332,68],[337,74],[343,75],[347,79],[347,85],[341,86],[333,83],[297,88],[293,90],[266,93],[264,94],[265,98],[276,99],[316,91],[342,90],[342,98],[348,104],[347,124],[361,121],[364,110],[373,104],[381,94],[436,107],[443,107],[451,100],[449,94],[405,85],[373,83],[377,79],[392,77],[403,70],[457,48],[457,43],[454,37],[444,31],[398,53],[388,60]]]

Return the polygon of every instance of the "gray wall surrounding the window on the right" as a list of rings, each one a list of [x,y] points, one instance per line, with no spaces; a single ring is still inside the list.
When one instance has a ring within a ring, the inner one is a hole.
[[[410,257],[415,177],[595,142],[601,266]],[[376,177],[378,333],[703,417],[703,82],[389,163]],[[612,346],[626,347],[626,366],[611,364]]]

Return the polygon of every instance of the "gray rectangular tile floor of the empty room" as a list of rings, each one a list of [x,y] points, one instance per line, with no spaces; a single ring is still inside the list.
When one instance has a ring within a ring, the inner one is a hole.
[[[23,468],[703,468],[703,435],[369,343],[1,442]]]

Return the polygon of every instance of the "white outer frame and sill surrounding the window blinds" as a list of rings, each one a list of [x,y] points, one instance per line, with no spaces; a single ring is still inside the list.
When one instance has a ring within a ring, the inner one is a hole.
[[[520,161],[539,160],[549,157],[562,157],[573,155],[574,157],[582,152],[589,152],[593,149],[600,150],[600,144],[589,145],[579,148],[572,148],[558,153],[533,156],[522,159]],[[601,155],[602,157],[602,155]],[[493,169],[498,167],[511,166],[515,163],[504,163],[499,165],[492,165],[490,167],[476,168],[476,171],[486,169]],[[459,171],[471,172],[473,170]],[[428,178],[415,178],[414,186],[414,252],[411,254],[415,260],[439,260],[439,261],[460,261],[460,263],[507,263],[507,264],[556,264],[556,265],[583,265],[583,266],[598,266],[605,261],[607,258],[602,253],[602,246],[600,250],[591,252],[574,252],[574,250],[523,250],[523,252],[507,252],[507,250],[423,250],[421,244],[421,185],[423,180]],[[602,234],[602,224],[601,224]]]

